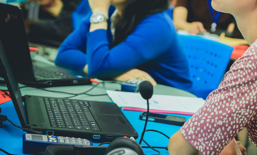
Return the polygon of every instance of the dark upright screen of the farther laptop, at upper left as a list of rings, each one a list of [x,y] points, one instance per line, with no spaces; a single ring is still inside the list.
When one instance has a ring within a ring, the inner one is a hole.
[[[18,81],[28,80],[32,62],[22,10],[0,3],[0,25],[0,38],[14,76]]]

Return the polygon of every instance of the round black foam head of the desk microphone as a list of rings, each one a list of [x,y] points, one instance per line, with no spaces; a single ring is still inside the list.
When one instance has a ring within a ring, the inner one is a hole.
[[[154,92],[153,85],[149,81],[142,81],[139,84],[139,93],[141,94],[143,99],[145,100],[151,99],[153,92]]]

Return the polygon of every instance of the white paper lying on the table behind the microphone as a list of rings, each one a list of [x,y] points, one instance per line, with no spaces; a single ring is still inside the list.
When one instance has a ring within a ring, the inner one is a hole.
[[[147,108],[146,100],[140,93],[107,90],[107,94],[119,107]],[[149,100],[149,107],[154,110],[195,113],[204,103],[202,98],[154,94]]]

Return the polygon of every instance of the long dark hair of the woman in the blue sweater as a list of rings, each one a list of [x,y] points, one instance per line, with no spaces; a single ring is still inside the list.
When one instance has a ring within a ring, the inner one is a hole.
[[[115,39],[110,48],[123,42],[144,17],[162,12],[169,7],[169,0],[128,0],[122,16],[115,24]]]

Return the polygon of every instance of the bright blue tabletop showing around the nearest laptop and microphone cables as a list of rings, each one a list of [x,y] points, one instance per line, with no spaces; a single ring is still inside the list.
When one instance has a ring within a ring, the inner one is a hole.
[[[14,106],[12,104],[12,101],[1,104],[0,107],[2,108],[1,114],[7,115],[9,120],[11,120],[16,125],[21,126],[19,119],[17,117],[16,111],[14,109]],[[141,112],[126,111],[126,110],[122,110],[122,112],[138,132],[139,138],[136,139],[136,141],[139,142],[140,135],[144,127],[144,121],[139,120],[139,114]],[[190,115],[178,115],[178,114],[172,114],[172,115],[185,117],[187,118],[187,120],[191,117]],[[0,148],[12,154],[23,154],[22,135],[26,132],[22,131],[22,129],[12,126],[7,121],[3,122],[3,126],[4,126],[3,128],[0,128],[0,133],[1,133]],[[155,123],[155,122],[148,122],[148,125],[146,127],[146,129],[154,129],[154,130],[161,131],[167,134],[169,137],[171,137],[172,134],[174,134],[177,130],[179,130],[179,128],[180,126]],[[152,132],[152,131],[145,132],[144,140],[148,142],[151,146],[166,147],[168,146],[168,143],[169,143],[169,139],[164,137],[164,135],[157,132]],[[99,143],[94,143],[93,145],[98,145],[98,144]],[[146,145],[142,142],[141,146],[146,146]],[[158,150],[161,152],[161,154],[169,154],[167,150],[164,150],[164,149],[158,149]],[[143,151],[145,154],[157,154],[157,152],[149,148],[144,148]],[[5,154],[5,153],[0,151],[0,154]]]

